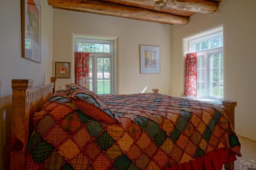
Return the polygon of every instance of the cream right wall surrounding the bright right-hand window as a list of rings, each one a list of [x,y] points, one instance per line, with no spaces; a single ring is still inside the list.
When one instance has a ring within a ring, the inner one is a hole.
[[[172,26],[171,94],[184,94],[184,39],[223,26],[224,99],[237,101],[235,130],[256,140],[256,1],[222,0],[216,14],[196,14],[188,26]],[[181,67],[183,66],[183,67]]]

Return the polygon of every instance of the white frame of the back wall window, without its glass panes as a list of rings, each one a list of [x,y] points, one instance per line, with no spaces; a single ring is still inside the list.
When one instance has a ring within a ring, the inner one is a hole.
[[[110,94],[116,94],[116,74],[115,74],[115,44],[114,40],[101,40],[101,39],[87,39],[87,38],[76,38],[75,39],[75,50],[78,51],[78,43],[100,43],[100,44],[109,44],[110,52],[101,53],[101,52],[90,52],[90,51],[79,51],[79,52],[88,52],[90,57],[92,57],[92,91],[97,94],[97,58],[110,58]],[[96,74],[95,74],[96,73]],[[108,93],[105,93],[108,94]]]

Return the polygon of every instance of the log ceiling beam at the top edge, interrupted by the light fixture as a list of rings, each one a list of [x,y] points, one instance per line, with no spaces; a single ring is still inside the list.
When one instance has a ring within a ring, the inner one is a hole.
[[[114,0],[154,6],[154,0]],[[184,10],[202,14],[213,14],[218,10],[220,0],[167,0],[166,8]]]

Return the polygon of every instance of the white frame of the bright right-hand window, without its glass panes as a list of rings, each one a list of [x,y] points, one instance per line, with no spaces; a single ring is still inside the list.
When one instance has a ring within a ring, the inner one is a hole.
[[[188,40],[188,48],[190,49],[189,51],[196,52],[197,56],[200,55],[205,55],[205,75],[206,75],[206,80],[205,80],[205,95],[198,94],[197,98],[209,98],[209,99],[215,99],[215,100],[223,100],[223,97],[217,97],[217,96],[210,96],[210,55],[214,53],[223,53],[223,44],[218,47],[210,48],[210,49],[205,49],[202,51],[195,51],[195,44],[198,42],[202,42],[204,40],[209,40],[212,39],[216,36],[223,36],[223,30],[219,30],[218,32],[213,32],[210,34],[205,34],[200,37],[194,37],[192,40]],[[223,54],[224,55],[224,54]],[[223,94],[224,95],[224,94]]]

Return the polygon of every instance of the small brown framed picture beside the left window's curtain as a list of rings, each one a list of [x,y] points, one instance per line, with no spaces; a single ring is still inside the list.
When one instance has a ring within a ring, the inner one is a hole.
[[[55,62],[55,77],[70,78],[70,63]]]

